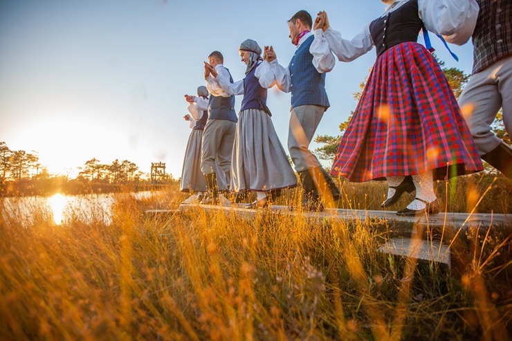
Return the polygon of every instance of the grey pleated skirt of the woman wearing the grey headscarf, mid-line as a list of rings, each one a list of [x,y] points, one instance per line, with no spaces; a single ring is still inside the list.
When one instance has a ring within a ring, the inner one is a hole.
[[[297,186],[297,177],[271,116],[261,110],[240,113],[231,157],[231,190],[271,191]]]

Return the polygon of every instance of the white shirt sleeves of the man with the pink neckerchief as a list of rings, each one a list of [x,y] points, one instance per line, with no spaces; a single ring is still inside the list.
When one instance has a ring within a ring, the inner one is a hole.
[[[300,38],[297,48],[299,48],[306,39],[311,37],[311,35],[314,35],[314,39],[311,46],[309,46],[309,53],[313,55],[313,66],[315,66],[316,71],[319,73],[327,73],[333,69],[336,59],[331,53],[329,44],[327,44],[327,40],[324,39],[321,29],[315,30],[314,33],[309,32]],[[259,66],[259,69],[260,77],[263,77],[266,82],[273,77],[272,84],[275,82],[277,87],[285,93],[291,91],[291,75],[288,66],[284,68],[277,62],[277,59],[274,59],[270,63],[264,60],[262,65]]]

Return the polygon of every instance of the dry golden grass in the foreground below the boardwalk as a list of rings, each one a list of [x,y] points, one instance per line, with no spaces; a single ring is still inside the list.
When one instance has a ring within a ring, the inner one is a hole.
[[[509,340],[506,228],[430,231],[452,242],[450,275],[376,252],[411,229],[386,221],[144,214],[186,197],[117,194],[110,224],[0,207],[1,339]]]

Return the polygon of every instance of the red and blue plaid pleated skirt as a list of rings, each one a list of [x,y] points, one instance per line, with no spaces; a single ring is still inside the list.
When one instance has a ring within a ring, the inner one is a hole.
[[[376,60],[331,174],[361,182],[430,169],[439,180],[483,167],[441,67],[423,45],[405,42]]]

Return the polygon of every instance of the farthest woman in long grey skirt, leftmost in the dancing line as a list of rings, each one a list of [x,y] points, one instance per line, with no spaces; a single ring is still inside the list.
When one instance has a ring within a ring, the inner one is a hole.
[[[208,90],[206,86],[197,88],[196,101],[189,103],[187,114],[183,116],[190,122],[192,132],[188,138],[187,149],[185,149],[185,159],[183,160],[183,169],[181,170],[180,191],[196,194],[192,199],[201,201],[203,192],[206,192],[206,181],[201,172],[201,140],[203,139],[203,130],[208,120]],[[185,95],[185,98],[188,95]],[[218,169],[217,169],[218,171]],[[223,178],[217,179],[219,191],[227,190],[226,181]]]

